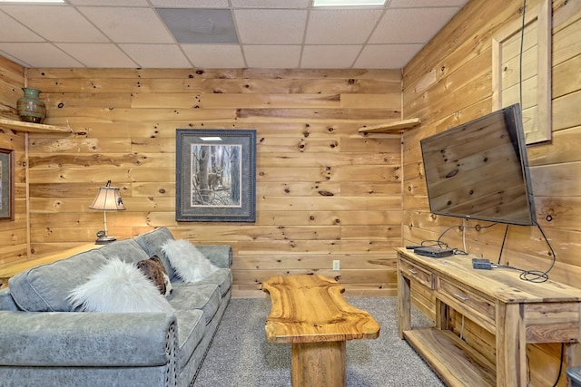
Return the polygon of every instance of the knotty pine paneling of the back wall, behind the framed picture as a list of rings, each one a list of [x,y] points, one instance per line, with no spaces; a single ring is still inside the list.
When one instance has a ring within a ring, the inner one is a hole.
[[[126,211],[109,234],[168,226],[175,237],[234,247],[235,295],[262,296],[270,276],[318,273],[352,295],[395,295],[401,245],[400,136],[358,133],[401,118],[401,73],[378,70],[27,69],[47,122],[31,134],[34,255],[94,240],[98,186]],[[175,210],[175,130],[257,131],[257,221],[183,222]],[[340,271],[331,270],[340,260]]]

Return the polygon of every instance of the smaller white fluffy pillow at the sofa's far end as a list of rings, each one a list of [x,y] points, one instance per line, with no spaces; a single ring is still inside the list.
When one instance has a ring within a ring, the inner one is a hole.
[[[183,282],[202,281],[219,269],[185,239],[168,240],[162,245],[162,251]]]

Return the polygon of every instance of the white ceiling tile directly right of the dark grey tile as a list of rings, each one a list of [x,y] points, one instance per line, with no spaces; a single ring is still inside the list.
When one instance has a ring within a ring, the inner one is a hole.
[[[300,44],[306,20],[306,10],[234,11],[234,24],[242,44]]]

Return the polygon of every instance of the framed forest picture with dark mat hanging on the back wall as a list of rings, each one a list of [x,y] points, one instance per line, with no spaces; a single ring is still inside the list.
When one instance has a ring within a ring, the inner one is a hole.
[[[256,131],[176,133],[175,219],[254,222]]]

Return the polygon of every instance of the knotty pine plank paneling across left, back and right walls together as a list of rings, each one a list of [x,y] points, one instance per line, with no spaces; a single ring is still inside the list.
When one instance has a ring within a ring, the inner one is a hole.
[[[528,158],[537,218],[556,252],[550,276],[577,285],[581,3],[552,5],[553,140],[529,147]],[[23,133],[0,133],[0,147],[16,151],[15,220],[0,221],[0,266],[92,241],[103,217],[88,205],[112,179],[128,209],[109,215],[111,235],[168,226],[176,237],[231,244],[239,296],[264,296],[260,284],[269,276],[304,273],[336,277],[351,295],[394,295],[393,247],[402,240],[417,244],[451,227],[447,241],[463,247],[458,219],[429,214],[419,140],[491,111],[491,38],[520,18],[521,6],[471,0],[403,74],[26,69],[25,79],[25,69],[0,57],[0,116],[16,118],[15,100],[27,82],[43,90],[48,123],[74,128],[68,136],[31,134],[27,142]],[[402,110],[401,118],[422,120],[402,149],[399,136],[357,132],[397,120]],[[176,128],[258,131],[255,224],[175,222]],[[466,248],[496,260],[504,232],[470,229]],[[330,269],[334,259],[340,272]],[[510,227],[502,260],[543,270],[550,256],[535,227]],[[434,296],[413,292],[419,309],[434,317]],[[457,334],[493,359],[491,334],[458,314],[450,318]],[[555,381],[559,352],[558,345],[527,345],[530,385]],[[562,372],[559,386],[566,385]]]

